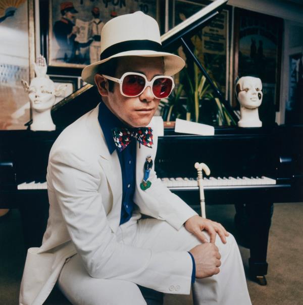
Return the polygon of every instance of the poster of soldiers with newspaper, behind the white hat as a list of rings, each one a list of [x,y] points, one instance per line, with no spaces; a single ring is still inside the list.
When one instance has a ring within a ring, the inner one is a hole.
[[[135,11],[157,19],[157,0],[49,1],[48,65],[83,68],[98,61],[105,23]]]

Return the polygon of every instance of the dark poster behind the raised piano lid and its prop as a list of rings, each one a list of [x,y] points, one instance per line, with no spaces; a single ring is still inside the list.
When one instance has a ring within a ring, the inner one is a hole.
[[[192,16],[210,2],[175,0],[172,25],[176,26]],[[212,80],[226,95],[229,82],[229,11],[223,10],[197,35],[192,37],[198,60],[207,70]]]

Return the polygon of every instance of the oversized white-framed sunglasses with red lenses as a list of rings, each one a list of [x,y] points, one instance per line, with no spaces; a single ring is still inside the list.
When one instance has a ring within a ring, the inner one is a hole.
[[[121,94],[127,97],[139,96],[149,86],[156,98],[165,98],[175,87],[174,79],[167,75],[155,76],[151,81],[148,81],[144,74],[137,72],[126,72],[121,78],[104,74],[102,76],[119,83]]]

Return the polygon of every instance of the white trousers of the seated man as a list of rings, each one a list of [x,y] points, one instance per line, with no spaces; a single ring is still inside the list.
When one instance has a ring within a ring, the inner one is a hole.
[[[134,215],[122,224],[117,240],[135,247],[154,251],[190,250],[199,240],[183,226],[179,231],[153,218],[138,219]],[[204,232],[208,237],[207,232]],[[223,244],[217,235],[216,245],[221,253],[221,267],[217,275],[195,279],[194,304],[251,305],[240,252],[234,237],[229,234]],[[123,280],[96,279],[86,272],[78,255],[64,265],[58,284],[65,296],[75,305],[141,305],[146,304],[138,286]],[[178,286],[170,286],[172,293]]]

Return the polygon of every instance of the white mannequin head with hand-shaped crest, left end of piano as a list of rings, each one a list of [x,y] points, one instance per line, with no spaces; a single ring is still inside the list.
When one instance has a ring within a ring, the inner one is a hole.
[[[60,85],[55,88],[54,82],[46,75],[46,61],[41,55],[37,63],[33,63],[36,77],[32,79],[30,85],[22,80],[23,87],[28,92],[30,105],[32,109],[31,130],[55,130],[51,109],[56,101],[56,96],[64,93],[66,86]]]

